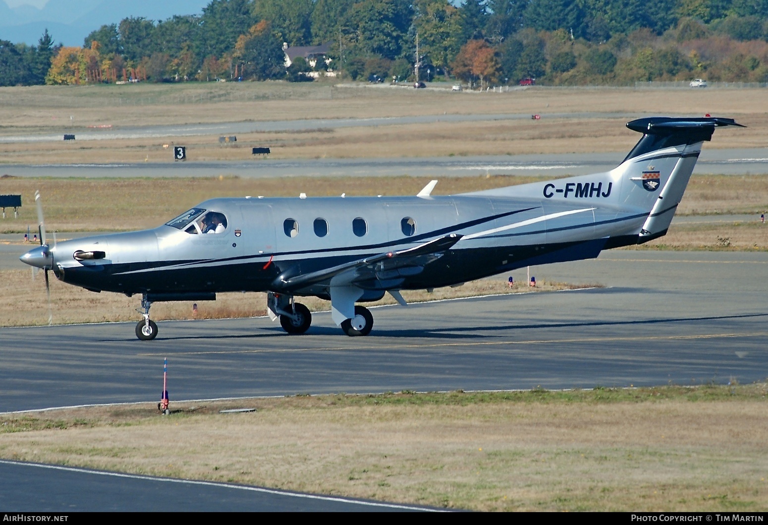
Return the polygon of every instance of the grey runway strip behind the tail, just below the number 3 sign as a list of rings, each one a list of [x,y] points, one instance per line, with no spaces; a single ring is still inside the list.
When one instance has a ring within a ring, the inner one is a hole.
[[[166,162],[141,164],[7,164],[0,174],[15,177],[465,177],[545,175],[561,177],[609,171],[623,153],[484,155],[421,158],[319,158],[306,160]],[[703,148],[694,174],[768,174],[768,148]]]

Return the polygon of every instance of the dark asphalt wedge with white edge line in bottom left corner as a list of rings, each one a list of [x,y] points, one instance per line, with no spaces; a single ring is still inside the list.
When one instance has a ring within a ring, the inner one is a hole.
[[[23,481],[21,481],[23,480]],[[387,512],[415,505],[0,460],[0,510],[20,512]]]

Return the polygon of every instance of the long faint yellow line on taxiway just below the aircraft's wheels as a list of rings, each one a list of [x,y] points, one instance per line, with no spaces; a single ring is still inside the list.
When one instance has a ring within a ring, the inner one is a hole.
[[[639,337],[580,337],[573,339],[530,339],[527,341],[476,341],[465,343],[434,343],[434,344],[405,344],[399,348],[436,348],[436,347],[480,347],[502,344],[553,344],[553,343],[594,343],[611,341],[673,341],[689,339],[717,339],[721,337],[765,337],[768,332],[756,332],[754,334],[700,334],[700,335],[647,335]],[[234,350],[234,351],[198,351],[178,352],[172,355],[210,355],[210,354],[280,354],[285,352],[326,352],[326,351],[366,351],[382,350],[383,347],[319,347],[319,348],[275,348],[272,350]],[[165,351],[161,353],[143,353],[139,356],[158,356],[171,354]]]

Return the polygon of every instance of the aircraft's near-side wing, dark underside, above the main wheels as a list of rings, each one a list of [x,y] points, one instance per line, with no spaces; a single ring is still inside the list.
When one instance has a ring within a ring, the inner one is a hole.
[[[309,274],[280,278],[275,284],[286,291],[296,291],[316,284],[364,284],[362,287],[365,288],[384,289],[388,282],[394,283],[409,275],[420,274],[425,264],[442,257],[461,238],[460,234],[450,234],[406,250],[388,251]]]

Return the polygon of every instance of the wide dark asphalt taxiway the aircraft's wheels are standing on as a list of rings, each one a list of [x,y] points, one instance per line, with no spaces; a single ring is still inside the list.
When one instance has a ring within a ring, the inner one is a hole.
[[[607,251],[531,268],[606,288],[376,308],[368,337],[327,313],[303,336],[266,318],[161,322],[151,342],[133,323],[3,328],[0,411],[155,400],[165,357],[171,402],[764,380],[766,271],[764,252]]]

